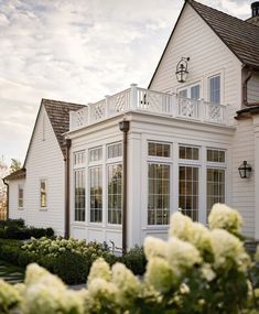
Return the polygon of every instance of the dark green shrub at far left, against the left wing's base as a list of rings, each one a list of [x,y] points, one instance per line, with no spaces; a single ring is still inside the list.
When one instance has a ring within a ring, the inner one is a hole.
[[[23,219],[7,219],[0,221],[0,238],[24,240],[31,237],[53,237],[52,228],[26,227]]]

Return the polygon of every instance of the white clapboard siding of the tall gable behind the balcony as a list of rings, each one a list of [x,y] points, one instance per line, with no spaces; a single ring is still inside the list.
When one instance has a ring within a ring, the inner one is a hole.
[[[177,83],[175,71],[181,57],[190,57],[186,83]],[[231,115],[241,106],[241,63],[188,4],[163,55],[151,89],[177,93],[185,85],[201,83],[201,98],[208,99],[208,77],[222,75],[223,105]]]

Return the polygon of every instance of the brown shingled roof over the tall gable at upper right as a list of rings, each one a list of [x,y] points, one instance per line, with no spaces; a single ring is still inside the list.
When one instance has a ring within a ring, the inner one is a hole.
[[[209,8],[194,0],[185,0],[163,54],[150,80],[149,88],[165,54],[186,4],[190,4],[205,23],[218,35],[236,57],[246,66],[259,69],[259,26]]]

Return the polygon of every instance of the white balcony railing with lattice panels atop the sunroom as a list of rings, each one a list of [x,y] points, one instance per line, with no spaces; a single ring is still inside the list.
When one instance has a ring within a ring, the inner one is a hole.
[[[132,84],[123,91],[107,96],[98,102],[88,104],[80,110],[71,111],[69,130],[77,130],[127,111],[226,124],[226,109],[225,105],[139,88]]]

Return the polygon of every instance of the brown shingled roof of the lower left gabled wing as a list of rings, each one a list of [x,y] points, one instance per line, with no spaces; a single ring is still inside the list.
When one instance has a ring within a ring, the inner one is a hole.
[[[79,104],[73,104],[73,102],[65,102],[65,101],[60,101],[60,100],[52,100],[52,99],[42,99],[41,106],[37,112],[36,121],[32,131],[32,137],[29,143],[29,148],[26,151],[26,156],[24,160],[24,167],[28,159],[28,154],[31,148],[32,143],[32,138],[37,124],[39,116],[41,112],[42,107],[45,108],[47,117],[51,121],[53,131],[56,136],[57,142],[61,147],[62,153],[65,156],[65,143],[64,143],[64,138],[63,133],[67,132],[69,130],[69,111],[76,111],[79,110],[80,108],[85,107],[85,105],[79,105]]]

